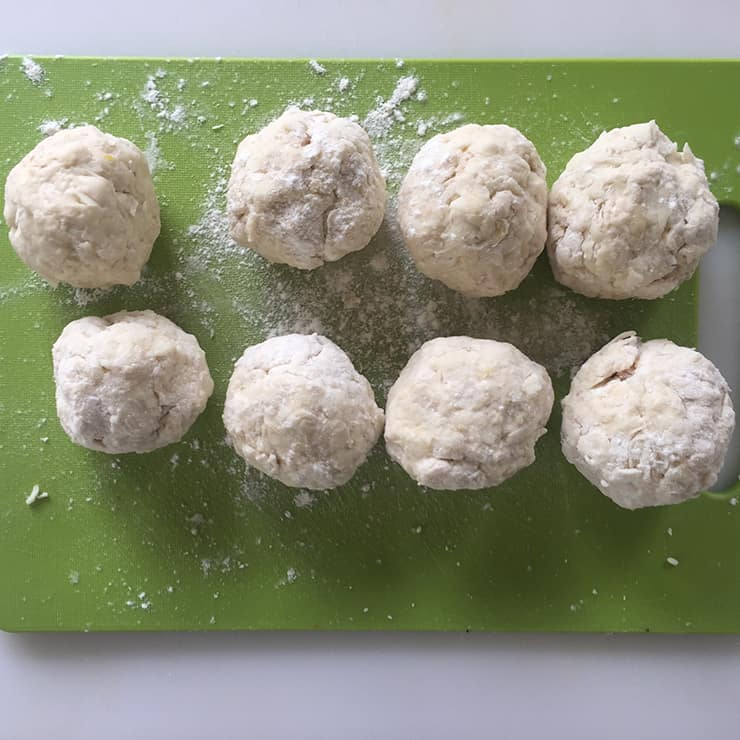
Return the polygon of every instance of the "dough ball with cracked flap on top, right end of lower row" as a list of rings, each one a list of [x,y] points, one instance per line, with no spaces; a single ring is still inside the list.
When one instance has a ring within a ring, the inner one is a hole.
[[[706,357],[625,332],[576,373],[561,436],[565,457],[591,483],[637,509],[712,486],[734,426],[730,389]]]

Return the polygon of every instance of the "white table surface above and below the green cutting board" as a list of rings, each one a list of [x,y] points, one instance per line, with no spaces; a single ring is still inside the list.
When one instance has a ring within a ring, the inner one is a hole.
[[[312,57],[733,57],[740,52],[737,0],[564,5],[12,0],[3,3],[0,52]],[[737,325],[740,313],[734,315]],[[740,637],[735,636],[0,633],[0,740],[723,740],[740,737],[739,685]]]

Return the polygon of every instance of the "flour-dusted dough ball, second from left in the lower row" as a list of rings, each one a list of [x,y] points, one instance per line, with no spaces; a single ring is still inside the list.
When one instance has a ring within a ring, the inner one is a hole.
[[[248,347],[229,381],[224,425],[250,465],[296,488],[346,483],[383,429],[370,383],[336,344],[287,334]]]

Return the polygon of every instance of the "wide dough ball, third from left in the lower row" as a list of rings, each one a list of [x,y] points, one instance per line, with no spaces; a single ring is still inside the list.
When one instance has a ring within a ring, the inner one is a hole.
[[[552,403],[545,369],[511,344],[432,339],[388,394],[386,448],[424,486],[497,486],[534,462]]]

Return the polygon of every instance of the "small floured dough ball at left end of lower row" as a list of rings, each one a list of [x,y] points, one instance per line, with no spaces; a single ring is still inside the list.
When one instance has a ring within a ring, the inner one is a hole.
[[[59,420],[91,450],[149,452],[177,442],[213,393],[198,340],[153,311],[77,319],[52,355]]]

